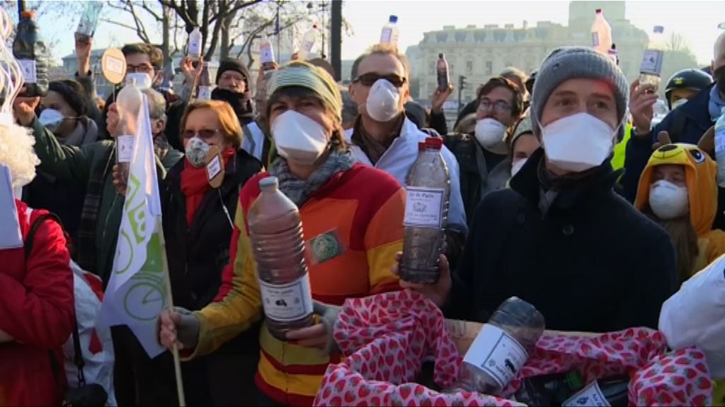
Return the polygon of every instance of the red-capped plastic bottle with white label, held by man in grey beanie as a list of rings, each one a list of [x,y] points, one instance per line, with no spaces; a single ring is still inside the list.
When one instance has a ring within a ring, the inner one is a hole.
[[[448,223],[450,174],[441,155],[443,139],[426,138],[405,188],[405,238],[400,278],[434,283],[440,277],[439,255],[444,249]]]

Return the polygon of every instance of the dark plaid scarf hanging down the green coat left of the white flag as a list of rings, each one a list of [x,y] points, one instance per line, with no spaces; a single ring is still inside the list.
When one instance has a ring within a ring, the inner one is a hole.
[[[101,208],[103,182],[116,161],[115,153],[114,145],[104,153],[99,165],[96,165],[94,172],[91,172],[88,177],[86,198],[83,199],[83,210],[80,212],[80,223],[78,224],[78,259],[76,262],[80,268],[95,274],[103,271],[97,269],[96,265],[96,225]]]

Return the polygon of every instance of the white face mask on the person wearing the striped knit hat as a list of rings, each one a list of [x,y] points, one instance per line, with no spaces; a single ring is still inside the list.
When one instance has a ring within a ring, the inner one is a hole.
[[[275,119],[272,136],[280,156],[303,165],[314,164],[329,143],[328,134],[320,123],[294,110]]]

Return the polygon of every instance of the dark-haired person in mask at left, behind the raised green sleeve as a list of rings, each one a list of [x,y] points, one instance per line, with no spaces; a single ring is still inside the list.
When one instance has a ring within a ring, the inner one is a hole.
[[[88,114],[90,101],[80,83],[75,80],[59,80],[49,84],[43,98],[38,121],[57,136],[65,146],[85,146],[94,143],[98,128]],[[37,209],[47,209],[60,218],[65,230],[75,238],[86,196],[85,185],[59,180],[49,172],[38,176],[22,191],[22,200]]]

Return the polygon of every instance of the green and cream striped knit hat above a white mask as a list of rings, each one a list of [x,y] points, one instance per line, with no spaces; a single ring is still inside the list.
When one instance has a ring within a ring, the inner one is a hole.
[[[307,88],[317,93],[335,112],[337,119],[342,119],[342,97],[337,83],[322,68],[315,67],[307,62],[289,62],[270,77],[267,83],[267,97],[272,98],[273,94],[279,89],[291,86]],[[267,106],[267,109],[269,117],[270,106]]]

